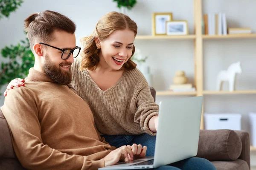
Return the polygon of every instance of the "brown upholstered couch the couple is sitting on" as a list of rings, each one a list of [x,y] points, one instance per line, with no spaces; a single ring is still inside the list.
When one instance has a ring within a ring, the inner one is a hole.
[[[154,88],[151,94],[155,99]],[[250,170],[249,134],[234,130],[201,130],[196,157],[208,159],[217,170]],[[0,170],[24,170],[15,156],[9,127],[1,110]]]

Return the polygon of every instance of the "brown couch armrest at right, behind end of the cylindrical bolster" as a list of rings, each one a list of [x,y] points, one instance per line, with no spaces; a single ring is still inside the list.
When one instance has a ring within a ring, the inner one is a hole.
[[[242,152],[238,159],[247,162],[250,167],[250,136],[249,133],[243,130],[235,130],[242,142]]]

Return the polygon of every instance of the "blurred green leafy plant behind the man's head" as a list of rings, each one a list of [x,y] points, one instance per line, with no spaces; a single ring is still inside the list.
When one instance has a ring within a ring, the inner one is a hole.
[[[30,50],[29,40],[21,41],[16,46],[11,45],[1,50],[1,55],[7,58],[0,67],[0,88],[12,79],[26,77],[29,68],[34,66],[35,58]]]

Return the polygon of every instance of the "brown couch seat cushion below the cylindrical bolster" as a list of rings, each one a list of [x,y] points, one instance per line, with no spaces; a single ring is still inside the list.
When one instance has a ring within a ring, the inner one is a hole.
[[[246,161],[237,159],[236,161],[212,161],[217,170],[250,170]]]

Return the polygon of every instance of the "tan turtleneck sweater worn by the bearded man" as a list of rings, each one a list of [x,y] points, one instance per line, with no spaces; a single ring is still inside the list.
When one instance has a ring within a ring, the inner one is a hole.
[[[25,87],[8,92],[1,110],[27,169],[97,169],[115,149],[99,136],[89,106],[73,89],[33,68]]]

